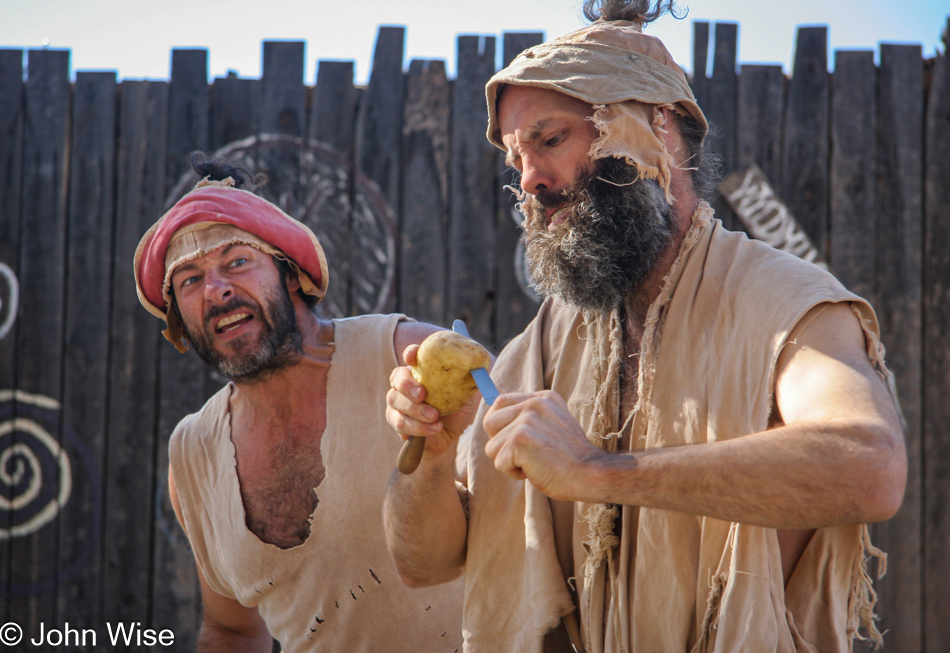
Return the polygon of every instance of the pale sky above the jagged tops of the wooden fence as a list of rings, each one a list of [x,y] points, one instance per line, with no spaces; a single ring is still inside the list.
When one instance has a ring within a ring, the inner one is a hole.
[[[356,61],[369,76],[379,25],[406,27],[406,62],[445,59],[455,71],[459,34],[541,31],[546,38],[584,24],[581,0],[0,0],[0,47],[68,48],[72,69],[116,70],[122,79],[167,79],[170,49],[209,50],[209,73],[259,77],[261,41],[307,42],[305,81],[318,59]],[[691,67],[692,23],[739,23],[739,61],[777,63],[790,72],[796,28],[827,25],[829,46],[876,49],[918,43],[924,56],[943,50],[946,0],[680,0],[685,20],[649,28],[674,58]],[[710,40],[712,43],[712,40]],[[500,48],[499,48],[500,51]],[[833,58],[829,57],[832,62]]]

